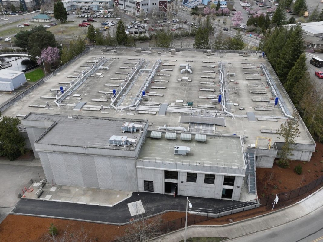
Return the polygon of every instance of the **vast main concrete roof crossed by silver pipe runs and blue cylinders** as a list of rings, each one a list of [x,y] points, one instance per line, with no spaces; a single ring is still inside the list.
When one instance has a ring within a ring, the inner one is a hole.
[[[101,48],[94,48],[23,99],[17,101],[15,105],[10,106],[3,112],[3,115],[15,117],[26,115],[29,112],[39,112],[71,114],[73,116],[147,119],[151,127],[182,126],[191,133],[245,135],[245,145],[255,143],[257,136],[271,138],[272,142],[282,141],[275,132],[280,124],[287,120],[287,117],[284,116],[279,106],[270,106],[273,105],[275,95],[268,85],[266,77],[262,75],[261,63],[267,66],[282,95],[281,101],[285,103],[290,113],[293,112],[294,106],[269,63],[266,59],[259,58],[260,54],[253,53],[243,56],[243,52],[241,54],[221,52],[221,54],[213,53],[207,56],[202,51],[179,51],[171,54],[168,50],[156,49],[151,50],[152,54],[149,55],[148,50],[149,48],[142,49],[142,52],[137,54],[136,48],[118,48],[117,53],[102,52]],[[158,52],[161,52],[160,55]],[[58,107],[53,98],[60,86],[68,87],[69,83],[76,80],[82,71],[87,70],[102,57],[109,58],[103,65],[109,67],[109,70],[100,69],[93,73]],[[136,108],[130,107],[121,112],[120,107],[136,103],[138,94],[142,92],[145,81],[151,74],[147,71],[137,72],[133,76],[132,80],[134,81],[127,85],[121,85],[128,73],[142,60],[142,65],[139,68],[154,68],[158,60],[161,60],[161,65],[145,88],[147,98],[142,98]],[[234,114],[234,119],[231,116],[225,116],[221,106],[216,102],[220,94],[220,62],[224,63],[226,73],[235,73],[235,76],[226,76],[225,81],[227,86],[225,102],[230,108],[230,112]],[[181,74],[184,67],[180,67],[180,64],[190,64],[193,73],[184,72]],[[120,98],[114,103],[119,107],[116,112],[110,106],[110,95],[113,93],[113,89],[117,90],[117,93],[120,92],[121,86],[125,87],[126,91],[122,92]],[[86,102],[86,104],[80,111],[74,110],[79,102]],[[193,106],[187,106],[188,102],[193,102]],[[163,103],[166,103],[168,107],[165,115],[160,116],[158,115],[159,108]],[[47,104],[49,104],[49,108],[46,107]],[[103,109],[101,109],[101,105],[103,105]],[[253,112],[256,120],[248,120],[247,112]],[[226,126],[179,123],[181,115],[190,114],[223,117]],[[302,122],[300,122],[299,130],[301,134],[296,143],[315,144]],[[100,139],[99,137],[94,138],[96,141]],[[266,139],[261,139],[258,142],[259,147],[266,148],[267,145]]]

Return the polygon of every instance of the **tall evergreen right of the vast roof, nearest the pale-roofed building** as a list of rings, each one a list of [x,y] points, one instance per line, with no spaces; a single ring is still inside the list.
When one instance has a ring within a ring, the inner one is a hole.
[[[283,84],[287,81],[287,75],[293,68],[298,57],[304,52],[301,26],[297,25],[295,28],[291,28],[288,36],[289,38],[286,43],[284,42],[284,46],[280,51],[280,56],[275,68],[276,73]]]

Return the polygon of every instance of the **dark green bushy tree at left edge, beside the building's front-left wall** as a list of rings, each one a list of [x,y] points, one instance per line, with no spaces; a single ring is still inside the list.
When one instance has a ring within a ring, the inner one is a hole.
[[[4,116],[0,121],[0,156],[15,160],[25,154],[25,138],[20,136],[18,118]]]

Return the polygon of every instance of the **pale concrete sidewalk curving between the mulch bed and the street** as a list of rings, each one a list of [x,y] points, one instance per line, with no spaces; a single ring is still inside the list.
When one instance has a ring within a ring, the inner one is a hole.
[[[303,200],[289,206],[276,210],[269,214],[260,215],[243,221],[219,226],[189,226],[186,238],[190,237],[228,237],[230,239],[245,236],[250,233],[263,231],[277,227],[298,218],[304,217],[310,212],[323,206],[323,187]],[[279,201],[278,201],[279,203]],[[163,236],[164,242],[177,242],[184,239],[184,229],[174,231]],[[160,241],[160,238],[152,240]]]

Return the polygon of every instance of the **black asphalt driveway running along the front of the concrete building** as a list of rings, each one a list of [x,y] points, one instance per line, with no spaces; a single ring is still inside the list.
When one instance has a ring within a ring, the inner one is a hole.
[[[232,207],[237,201],[219,200],[201,197],[189,197],[193,207],[219,208]],[[126,223],[131,215],[128,203],[141,200],[146,214],[157,214],[167,210],[185,211],[186,197],[155,193],[133,193],[125,201],[113,207],[63,203],[44,200],[21,199],[12,213],[52,216],[70,219],[82,219],[108,223]]]

